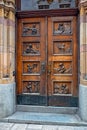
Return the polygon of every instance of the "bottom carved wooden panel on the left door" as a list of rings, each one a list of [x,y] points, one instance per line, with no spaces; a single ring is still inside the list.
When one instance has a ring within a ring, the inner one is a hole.
[[[39,93],[40,81],[23,81],[23,93]]]

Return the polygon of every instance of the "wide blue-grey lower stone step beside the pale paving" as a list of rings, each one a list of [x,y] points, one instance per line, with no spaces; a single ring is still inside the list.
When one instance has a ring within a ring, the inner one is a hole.
[[[9,123],[28,123],[40,125],[87,126],[77,114],[57,114],[17,111],[2,121]]]

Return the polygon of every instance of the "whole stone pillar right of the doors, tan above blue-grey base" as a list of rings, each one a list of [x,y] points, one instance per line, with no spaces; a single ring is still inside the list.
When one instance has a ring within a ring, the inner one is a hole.
[[[81,0],[80,9],[80,86],[79,112],[87,121],[87,0]]]

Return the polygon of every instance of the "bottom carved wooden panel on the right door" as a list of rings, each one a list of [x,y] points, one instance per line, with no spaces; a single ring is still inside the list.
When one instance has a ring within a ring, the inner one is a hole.
[[[53,82],[54,94],[71,94],[72,93],[71,88],[72,88],[71,81],[54,81]]]

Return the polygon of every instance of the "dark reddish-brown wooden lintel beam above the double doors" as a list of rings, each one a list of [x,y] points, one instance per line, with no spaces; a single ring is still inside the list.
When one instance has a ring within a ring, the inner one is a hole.
[[[65,13],[66,12],[66,13]],[[16,12],[17,18],[30,18],[30,17],[45,17],[45,16],[77,16],[79,14],[78,8],[74,9],[54,9],[54,10],[37,10],[37,11],[18,11]]]

